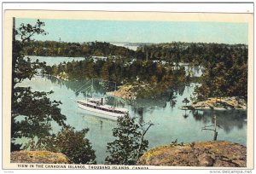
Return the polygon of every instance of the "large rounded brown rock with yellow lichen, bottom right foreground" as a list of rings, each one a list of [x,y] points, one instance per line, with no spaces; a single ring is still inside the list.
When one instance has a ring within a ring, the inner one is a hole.
[[[170,144],[150,149],[138,165],[246,167],[247,148],[224,141]]]

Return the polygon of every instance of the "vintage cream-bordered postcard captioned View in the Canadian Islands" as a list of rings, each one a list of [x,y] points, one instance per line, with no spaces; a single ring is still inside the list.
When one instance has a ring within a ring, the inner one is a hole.
[[[3,169],[253,169],[253,12],[3,19]]]

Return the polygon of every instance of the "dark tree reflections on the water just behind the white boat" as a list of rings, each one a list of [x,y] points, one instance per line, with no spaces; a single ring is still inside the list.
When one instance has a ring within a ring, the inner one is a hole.
[[[61,79],[55,78],[53,76],[46,76],[51,83],[53,84],[59,84],[65,85],[68,90],[73,90],[76,96],[79,96],[80,93],[83,93],[85,96],[85,92],[82,91],[86,89],[87,87],[90,87],[90,85],[93,85],[93,95],[97,97],[102,97],[104,96],[106,98],[106,102],[108,104],[113,104],[113,97],[112,96],[107,96],[106,92],[113,91],[115,90],[115,86],[113,83],[108,83],[108,82],[102,82],[100,80],[94,80],[93,84],[91,84],[90,79],[82,80],[82,81],[63,81]],[[84,85],[87,84],[87,85]],[[152,97],[145,97],[145,98],[138,98],[133,101],[125,101],[122,99],[117,99],[117,105],[123,107],[124,105],[131,105],[135,110],[137,108],[143,107],[147,109],[152,109],[154,107],[166,107],[166,102],[172,103],[171,106],[172,108],[175,107],[176,105],[176,98],[177,94],[182,96],[183,91],[185,90],[185,86],[179,86],[175,87],[171,90],[166,90],[163,92],[160,96],[154,96]],[[90,93],[90,91],[89,91]]]

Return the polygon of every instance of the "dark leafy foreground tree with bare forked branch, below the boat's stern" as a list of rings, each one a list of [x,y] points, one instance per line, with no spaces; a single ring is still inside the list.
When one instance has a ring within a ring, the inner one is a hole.
[[[144,140],[144,136],[153,124],[138,125],[128,114],[119,117],[117,124],[118,127],[113,129],[113,136],[117,139],[108,142],[107,152],[110,155],[105,159],[106,164],[136,165],[148,148],[148,140]],[[143,129],[146,125],[147,128]]]

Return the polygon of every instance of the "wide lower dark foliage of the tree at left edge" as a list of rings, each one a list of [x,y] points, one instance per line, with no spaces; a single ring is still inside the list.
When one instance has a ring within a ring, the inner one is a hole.
[[[50,101],[50,92],[32,92],[31,88],[15,87],[12,111],[12,138],[27,137],[41,142],[51,131],[50,121],[65,125],[66,117],[58,107],[61,102]]]

